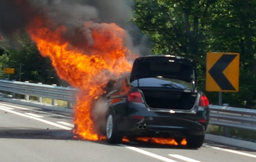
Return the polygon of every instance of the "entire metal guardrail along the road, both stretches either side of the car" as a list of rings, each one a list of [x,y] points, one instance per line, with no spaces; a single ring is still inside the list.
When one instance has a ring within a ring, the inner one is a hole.
[[[75,96],[79,92],[78,89],[71,87],[8,80],[0,80],[0,90],[4,92],[12,92],[14,94],[23,94],[25,95],[25,100],[29,100],[29,96],[38,97],[39,102],[42,102],[42,97],[52,98],[53,105],[56,105],[56,99],[68,101],[69,108],[71,108],[70,102],[75,102]],[[255,109],[218,105],[210,105],[209,107],[211,110],[211,125],[256,131]]]

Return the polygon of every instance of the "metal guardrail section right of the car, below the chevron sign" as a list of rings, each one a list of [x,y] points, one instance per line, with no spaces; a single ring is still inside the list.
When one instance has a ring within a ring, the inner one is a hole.
[[[210,105],[210,124],[256,131],[256,109]]]

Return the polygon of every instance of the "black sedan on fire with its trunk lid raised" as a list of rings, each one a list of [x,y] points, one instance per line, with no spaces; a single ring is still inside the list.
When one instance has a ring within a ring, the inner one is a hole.
[[[186,138],[200,147],[209,122],[209,101],[195,88],[195,62],[171,55],[139,57],[132,72],[108,83],[91,117],[109,143],[126,137]]]

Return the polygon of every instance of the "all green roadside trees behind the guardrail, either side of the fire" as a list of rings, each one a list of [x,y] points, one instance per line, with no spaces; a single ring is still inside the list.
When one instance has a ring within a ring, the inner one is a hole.
[[[134,0],[132,23],[152,42],[153,54],[189,57],[198,62],[197,87],[205,92],[206,53],[240,53],[240,89],[224,93],[223,103],[256,108],[256,1],[248,0]],[[68,85],[58,78],[48,58],[41,57],[26,33],[16,45],[0,42],[0,77],[4,67],[15,68],[11,80]],[[13,48],[17,47],[17,48]],[[21,73],[20,65],[22,67]],[[20,77],[21,76],[21,77]],[[218,93],[205,92],[210,103]]]

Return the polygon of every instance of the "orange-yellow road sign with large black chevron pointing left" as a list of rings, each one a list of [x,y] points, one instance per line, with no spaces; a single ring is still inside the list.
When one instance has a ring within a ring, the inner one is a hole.
[[[238,92],[239,53],[207,53],[206,91]]]

